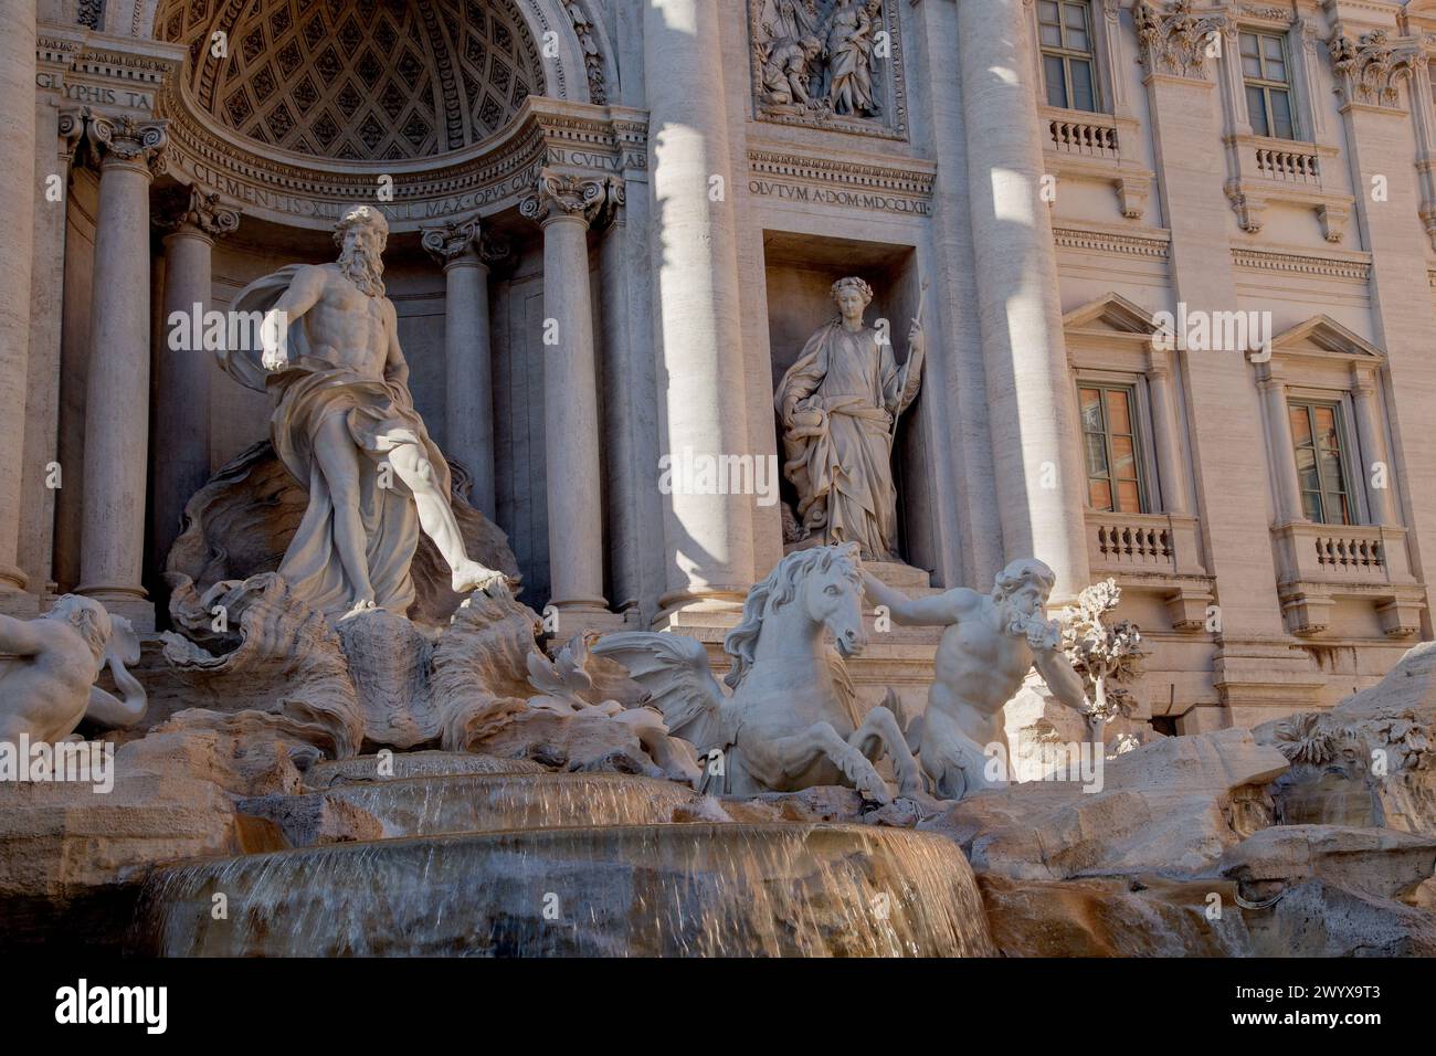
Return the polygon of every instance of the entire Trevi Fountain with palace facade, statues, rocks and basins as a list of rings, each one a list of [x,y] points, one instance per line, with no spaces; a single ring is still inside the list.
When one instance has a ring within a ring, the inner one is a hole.
[[[0,948],[1436,954],[1436,6],[4,19]]]

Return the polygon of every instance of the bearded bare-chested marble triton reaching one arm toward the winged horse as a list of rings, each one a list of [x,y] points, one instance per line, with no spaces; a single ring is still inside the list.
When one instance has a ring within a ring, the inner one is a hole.
[[[1045,616],[1053,570],[1035,557],[1014,560],[997,576],[991,595],[958,588],[909,599],[872,573],[867,596],[886,605],[895,624],[942,626],[928,710],[908,727],[923,773],[939,799],[962,799],[1005,784],[987,774],[989,746],[1007,760],[1002,707],[1035,667],[1053,695],[1087,711],[1083,680],[1063,654],[1061,628]]]

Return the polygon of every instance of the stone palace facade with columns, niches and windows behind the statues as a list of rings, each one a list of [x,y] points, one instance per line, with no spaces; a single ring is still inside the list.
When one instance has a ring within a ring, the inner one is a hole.
[[[774,392],[846,276],[925,345],[889,583],[1114,578],[1163,733],[1334,704],[1432,638],[1430,0],[7,13],[9,613],[165,625],[185,504],[269,422],[171,320],[372,204],[415,404],[564,638],[717,647],[801,546]],[[695,457],[760,486],[662,484]],[[920,708],[935,639],[873,639],[864,697]]]

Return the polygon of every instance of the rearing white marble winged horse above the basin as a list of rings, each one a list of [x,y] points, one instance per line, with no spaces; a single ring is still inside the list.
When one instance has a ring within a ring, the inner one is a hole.
[[[846,784],[887,803],[892,795],[873,769],[887,753],[899,795],[915,796],[922,774],[898,717],[886,707],[860,717],[843,664],[867,644],[860,576],[853,543],[780,560],[748,592],[742,622],[724,638],[732,695],[714,680],[702,642],[685,635],[625,631],[600,638],[593,652],[623,664],[663,713],[669,734],[698,749],[707,792]]]

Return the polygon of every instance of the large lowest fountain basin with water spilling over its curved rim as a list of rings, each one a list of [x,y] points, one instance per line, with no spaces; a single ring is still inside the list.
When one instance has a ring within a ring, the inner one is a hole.
[[[215,895],[227,917],[215,920]],[[158,868],[135,953],[989,955],[949,840],[859,825],[625,825],[335,843]]]

